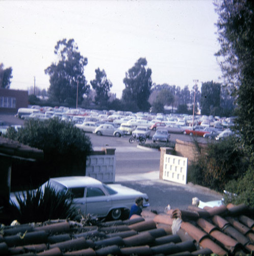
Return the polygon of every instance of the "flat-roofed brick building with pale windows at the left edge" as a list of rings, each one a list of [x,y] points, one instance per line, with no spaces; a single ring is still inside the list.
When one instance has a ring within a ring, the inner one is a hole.
[[[17,113],[28,107],[28,91],[0,88],[0,113]]]

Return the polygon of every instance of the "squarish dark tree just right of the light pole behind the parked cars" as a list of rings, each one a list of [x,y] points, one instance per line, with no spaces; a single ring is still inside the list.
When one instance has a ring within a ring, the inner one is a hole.
[[[220,106],[220,83],[203,82],[201,86],[201,115],[211,115],[214,108]]]

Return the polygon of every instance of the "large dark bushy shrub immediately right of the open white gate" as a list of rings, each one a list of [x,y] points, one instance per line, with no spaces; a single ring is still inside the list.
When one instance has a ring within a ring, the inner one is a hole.
[[[244,175],[247,164],[242,148],[233,137],[229,137],[209,143],[205,152],[199,152],[189,168],[189,181],[221,191],[228,181]]]

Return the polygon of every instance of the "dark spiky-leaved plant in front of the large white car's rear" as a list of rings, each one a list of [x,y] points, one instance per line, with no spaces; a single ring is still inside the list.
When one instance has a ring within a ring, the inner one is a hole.
[[[77,219],[79,212],[72,206],[72,199],[63,195],[49,184],[42,190],[27,190],[15,194],[11,201],[15,219],[19,223],[43,222],[49,219]]]

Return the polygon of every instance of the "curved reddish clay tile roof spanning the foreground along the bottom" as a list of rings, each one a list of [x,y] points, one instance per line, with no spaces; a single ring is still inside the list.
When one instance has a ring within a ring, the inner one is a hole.
[[[189,206],[96,225],[53,220],[4,226],[0,255],[251,255],[253,239],[253,209]]]

